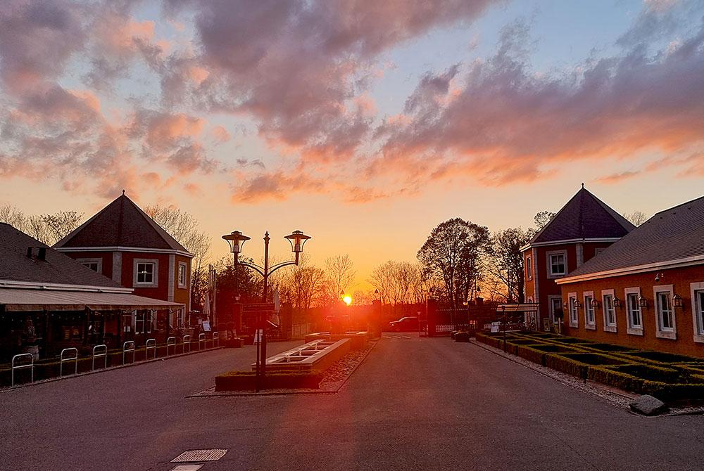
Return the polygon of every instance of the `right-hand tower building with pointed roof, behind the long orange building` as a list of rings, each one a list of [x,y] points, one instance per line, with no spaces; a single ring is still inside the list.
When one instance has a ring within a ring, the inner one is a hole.
[[[555,283],[596,254],[620,240],[634,226],[582,188],[532,240],[521,247],[525,267],[524,297],[538,303],[529,325],[542,328],[542,319],[557,322],[562,315],[562,292]]]

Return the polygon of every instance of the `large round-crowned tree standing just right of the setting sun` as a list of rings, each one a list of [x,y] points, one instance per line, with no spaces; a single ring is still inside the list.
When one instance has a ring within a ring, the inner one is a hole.
[[[432,230],[417,257],[427,276],[443,280],[445,295],[457,309],[477,288],[487,250],[488,228],[454,218]]]

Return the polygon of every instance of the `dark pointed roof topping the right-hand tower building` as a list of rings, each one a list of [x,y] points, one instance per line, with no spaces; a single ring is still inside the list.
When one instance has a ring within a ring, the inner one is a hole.
[[[530,243],[621,238],[634,228],[633,224],[582,186]]]

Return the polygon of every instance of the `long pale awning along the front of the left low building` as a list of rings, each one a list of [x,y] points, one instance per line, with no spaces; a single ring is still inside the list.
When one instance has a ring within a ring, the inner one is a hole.
[[[0,288],[0,307],[12,311],[132,311],[180,309],[184,304],[126,293]]]

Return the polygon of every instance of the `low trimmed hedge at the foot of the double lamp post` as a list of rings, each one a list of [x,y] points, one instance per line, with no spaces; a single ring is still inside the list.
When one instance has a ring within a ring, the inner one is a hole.
[[[323,374],[320,371],[309,373],[267,372],[265,389],[318,389]],[[256,388],[256,372],[229,371],[215,376],[215,391],[245,391]]]

